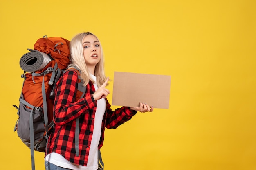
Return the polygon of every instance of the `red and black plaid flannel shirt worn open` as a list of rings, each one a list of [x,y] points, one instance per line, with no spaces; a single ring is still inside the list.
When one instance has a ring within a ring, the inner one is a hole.
[[[86,166],[92,141],[97,101],[92,96],[95,89],[91,81],[86,86],[85,97],[75,101],[78,81],[78,74],[74,70],[69,70],[63,74],[57,83],[53,116],[56,125],[49,136],[47,153],[59,153],[72,163]],[[137,113],[129,107],[121,107],[112,111],[107,99],[106,103],[107,108],[103,116],[98,149],[103,145],[105,128],[117,128]],[[76,118],[79,118],[80,122],[78,157],[75,155],[74,137]]]

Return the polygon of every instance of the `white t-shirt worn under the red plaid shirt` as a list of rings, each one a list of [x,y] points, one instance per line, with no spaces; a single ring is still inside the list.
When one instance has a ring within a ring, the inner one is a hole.
[[[93,85],[94,85],[95,91],[97,91],[98,89],[98,86],[96,84],[97,78],[92,74],[90,74],[90,76],[94,81]],[[98,169],[98,145],[101,137],[101,123],[102,123],[105,110],[106,110],[106,100],[104,98],[97,100],[97,109],[96,109],[95,119],[94,119],[94,129],[92,133],[92,142],[89,150],[87,166],[76,165],[68,161],[58,153],[50,153],[46,155],[45,161],[48,161],[56,166],[60,166],[60,167],[68,168],[72,170],[97,170]]]

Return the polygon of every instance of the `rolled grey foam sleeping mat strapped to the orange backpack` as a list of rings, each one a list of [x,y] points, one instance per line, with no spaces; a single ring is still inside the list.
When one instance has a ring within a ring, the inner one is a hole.
[[[27,49],[30,52],[24,54],[20,58],[20,68],[26,72],[36,72],[43,69],[50,61],[52,57],[48,54],[40,52],[38,50]]]

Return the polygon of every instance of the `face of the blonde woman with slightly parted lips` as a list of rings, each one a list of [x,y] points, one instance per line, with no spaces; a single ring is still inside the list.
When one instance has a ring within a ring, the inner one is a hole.
[[[94,66],[101,60],[101,47],[94,35],[86,35],[83,38],[83,56],[87,66]]]

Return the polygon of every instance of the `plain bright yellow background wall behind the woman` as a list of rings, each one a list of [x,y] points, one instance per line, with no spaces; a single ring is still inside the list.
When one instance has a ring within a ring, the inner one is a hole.
[[[43,35],[91,31],[110,78],[171,75],[169,109],[106,130],[106,170],[256,170],[255,9],[255,0],[1,0],[0,169],[31,169],[13,132],[20,57]]]

